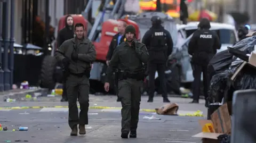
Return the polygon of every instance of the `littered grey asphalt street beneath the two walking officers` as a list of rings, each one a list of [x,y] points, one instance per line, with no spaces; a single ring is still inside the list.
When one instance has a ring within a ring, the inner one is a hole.
[[[67,103],[60,103],[59,97],[55,101],[45,98],[39,102],[0,102],[0,107],[6,106],[67,106]],[[53,99],[53,98],[52,98]],[[102,99],[104,99],[102,101]],[[90,96],[90,106],[111,106],[121,107],[121,103],[115,102],[116,97],[111,96]],[[141,108],[154,109],[163,105],[162,98],[156,97],[154,103],[146,103],[142,98]],[[190,99],[170,98],[178,103],[180,112],[194,112],[201,110],[205,112],[202,104],[187,104]],[[206,114],[203,113],[204,115]],[[197,143],[200,138],[191,137],[201,132],[198,119],[204,117],[191,116],[170,116],[154,115],[161,119],[143,119],[145,116],[152,116],[154,113],[141,112],[138,127],[138,138],[122,139],[121,114],[119,109],[90,109],[89,125],[86,126],[86,135],[70,137],[68,127],[68,108],[35,108],[35,109],[2,109],[0,110],[0,123],[7,127],[8,131],[0,132],[0,142],[51,142],[51,143],[78,143],[78,142],[133,142],[133,143]],[[12,131],[19,127],[28,127],[28,131]]]

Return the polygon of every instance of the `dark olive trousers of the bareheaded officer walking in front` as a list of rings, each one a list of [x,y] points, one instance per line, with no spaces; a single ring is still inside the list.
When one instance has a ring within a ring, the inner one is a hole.
[[[86,75],[78,77],[70,74],[67,78],[67,95],[68,95],[68,124],[73,128],[77,124],[88,124],[89,109],[89,78]],[[80,104],[80,113],[78,116],[77,98]]]

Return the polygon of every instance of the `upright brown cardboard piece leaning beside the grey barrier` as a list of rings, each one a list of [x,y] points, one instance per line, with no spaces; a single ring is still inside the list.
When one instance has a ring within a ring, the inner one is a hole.
[[[227,103],[223,104],[214,111],[211,115],[212,123],[215,132],[217,133],[231,133],[231,119],[228,112]]]

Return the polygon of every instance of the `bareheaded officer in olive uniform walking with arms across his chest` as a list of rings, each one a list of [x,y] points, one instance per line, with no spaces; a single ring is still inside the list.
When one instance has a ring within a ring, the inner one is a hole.
[[[77,136],[77,125],[79,134],[85,134],[85,124],[88,124],[89,108],[89,78],[91,63],[95,61],[96,52],[92,42],[84,37],[84,26],[82,23],[75,25],[75,38],[66,40],[56,51],[55,57],[62,62],[67,77],[68,95],[68,124],[71,128],[70,136]],[[77,98],[80,104],[78,117]]]

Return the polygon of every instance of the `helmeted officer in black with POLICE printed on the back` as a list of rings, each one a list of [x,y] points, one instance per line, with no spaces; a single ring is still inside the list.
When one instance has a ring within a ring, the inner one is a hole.
[[[202,72],[205,100],[208,97],[207,91],[210,86],[210,81],[207,75],[207,65],[211,58],[217,53],[217,49],[221,47],[217,33],[209,30],[210,28],[210,21],[205,18],[201,19],[198,24],[198,30],[194,32],[188,45],[188,53],[192,56],[191,66],[194,76],[193,101],[190,103],[199,103]]]

